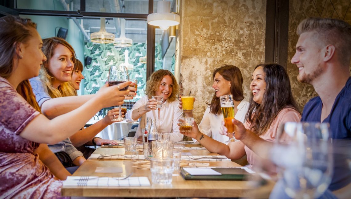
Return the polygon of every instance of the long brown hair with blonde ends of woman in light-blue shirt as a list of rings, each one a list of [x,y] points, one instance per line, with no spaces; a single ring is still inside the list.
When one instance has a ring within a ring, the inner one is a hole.
[[[54,81],[55,77],[50,73],[48,65],[51,57],[54,54],[54,50],[58,44],[62,44],[63,46],[67,47],[71,53],[73,62],[75,62],[75,52],[72,46],[59,37],[50,37],[43,40],[43,48],[42,51],[45,54],[47,60],[43,63],[40,68],[40,80],[44,83],[47,88],[48,94],[50,97],[63,97],[63,96],[71,96],[71,91],[69,89],[69,82],[64,82],[59,85],[57,89],[52,86],[52,82]],[[72,73],[71,73],[72,75]]]

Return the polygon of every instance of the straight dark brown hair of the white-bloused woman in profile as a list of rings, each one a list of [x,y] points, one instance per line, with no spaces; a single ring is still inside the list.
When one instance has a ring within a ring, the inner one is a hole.
[[[243,100],[243,75],[241,75],[240,69],[236,66],[226,64],[213,71],[213,79],[217,73],[219,73],[225,80],[231,82],[230,93],[233,95],[233,99],[235,101]],[[210,105],[210,112],[212,112],[214,115],[221,114],[219,97],[216,96],[216,92],[213,95],[211,103],[206,104]]]

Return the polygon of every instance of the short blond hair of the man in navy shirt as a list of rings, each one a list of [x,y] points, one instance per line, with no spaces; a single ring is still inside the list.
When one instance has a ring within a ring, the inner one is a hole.
[[[339,62],[349,67],[351,57],[351,26],[349,23],[330,18],[307,18],[297,27],[296,33],[316,31],[316,43],[335,46]]]

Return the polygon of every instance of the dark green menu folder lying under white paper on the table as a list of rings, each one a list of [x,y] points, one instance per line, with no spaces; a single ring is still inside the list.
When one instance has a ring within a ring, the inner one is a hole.
[[[250,175],[241,168],[212,168],[221,175],[191,175],[180,167],[180,174],[186,180],[245,180]]]

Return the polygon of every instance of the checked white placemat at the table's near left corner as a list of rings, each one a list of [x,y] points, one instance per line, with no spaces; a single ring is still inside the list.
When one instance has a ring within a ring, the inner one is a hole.
[[[113,177],[68,176],[63,186],[151,186],[147,177],[129,177],[124,180]]]

